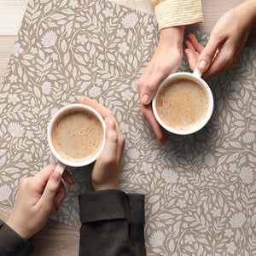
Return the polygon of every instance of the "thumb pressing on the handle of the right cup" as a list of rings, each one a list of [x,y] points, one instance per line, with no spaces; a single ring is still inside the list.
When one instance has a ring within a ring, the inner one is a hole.
[[[206,72],[207,69],[211,66],[213,58],[220,44],[221,42],[218,41],[214,36],[210,36],[210,39],[205,49],[202,50],[197,62],[197,68],[201,72]]]

